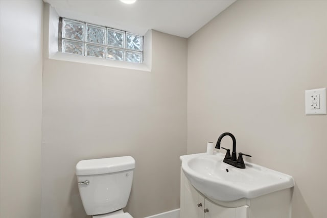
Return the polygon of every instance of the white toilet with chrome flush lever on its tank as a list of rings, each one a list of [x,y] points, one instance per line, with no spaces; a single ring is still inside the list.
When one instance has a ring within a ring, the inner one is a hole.
[[[78,189],[87,215],[133,218],[125,213],[135,160],[131,156],[81,160],[76,165]]]

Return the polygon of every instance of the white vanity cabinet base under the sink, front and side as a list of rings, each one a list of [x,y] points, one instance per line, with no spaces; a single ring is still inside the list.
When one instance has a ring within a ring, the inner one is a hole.
[[[291,198],[289,188],[254,199],[216,202],[197,191],[181,169],[180,218],[290,218]]]

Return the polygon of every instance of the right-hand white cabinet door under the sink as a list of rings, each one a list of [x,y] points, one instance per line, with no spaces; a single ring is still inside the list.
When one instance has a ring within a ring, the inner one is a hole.
[[[249,218],[249,206],[247,205],[228,208],[205,200],[205,207],[208,212],[204,213],[204,218]]]

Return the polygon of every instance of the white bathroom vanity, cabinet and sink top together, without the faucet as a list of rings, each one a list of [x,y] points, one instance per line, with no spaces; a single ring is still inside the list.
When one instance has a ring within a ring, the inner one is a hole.
[[[246,172],[223,158],[220,153],[180,157],[180,218],[291,217],[291,176],[249,163]]]

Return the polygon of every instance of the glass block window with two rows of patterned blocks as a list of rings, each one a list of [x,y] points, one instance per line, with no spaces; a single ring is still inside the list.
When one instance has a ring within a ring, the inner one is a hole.
[[[63,17],[59,18],[58,49],[81,56],[143,62],[143,36]]]

